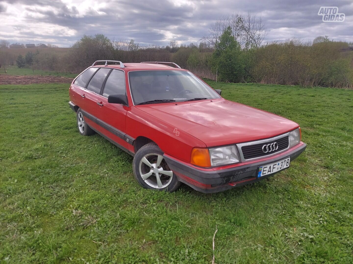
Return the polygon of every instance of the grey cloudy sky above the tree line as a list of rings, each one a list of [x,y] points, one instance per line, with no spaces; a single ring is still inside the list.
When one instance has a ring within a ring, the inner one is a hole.
[[[324,23],[321,6],[337,6],[345,21]],[[217,18],[237,12],[262,16],[268,41],[319,35],[353,41],[351,0],[0,0],[0,39],[68,47],[84,34],[103,33],[142,44],[189,44]]]

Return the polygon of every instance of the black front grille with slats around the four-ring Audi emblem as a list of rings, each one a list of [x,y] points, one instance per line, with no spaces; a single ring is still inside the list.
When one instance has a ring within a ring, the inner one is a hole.
[[[278,144],[278,149],[276,151],[272,151],[272,152],[268,152],[268,153],[264,153],[262,151],[263,145],[271,144],[274,142],[277,142],[277,144]],[[277,153],[281,150],[285,150],[288,148],[288,145],[289,145],[289,137],[286,136],[286,137],[283,137],[283,138],[280,138],[277,140],[273,140],[273,141],[270,141],[267,143],[243,146],[243,147],[241,147],[241,151],[243,152],[244,159],[252,159],[252,158],[271,155],[271,154]]]

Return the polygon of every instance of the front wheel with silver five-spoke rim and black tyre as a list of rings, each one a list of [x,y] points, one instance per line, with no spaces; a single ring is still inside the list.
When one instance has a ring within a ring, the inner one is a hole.
[[[172,192],[180,186],[177,176],[164,160],[162,150],[155,143],[148,143],[136,152],[133,172],[138,183],[146,189]]]

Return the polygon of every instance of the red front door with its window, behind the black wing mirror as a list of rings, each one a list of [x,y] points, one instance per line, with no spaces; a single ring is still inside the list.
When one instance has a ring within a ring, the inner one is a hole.
[[[97,97],[98,124],[104,128],[104,134],[114,140],[119,145],[129,149],[125,127],[127,105],[117,103],[108,103],[108,96],[113,94],[122,94],[126,96],[125,72],[123,70],[112,69],[104,82],[101,95]],[[126,100],[127,101],[127,100]]]

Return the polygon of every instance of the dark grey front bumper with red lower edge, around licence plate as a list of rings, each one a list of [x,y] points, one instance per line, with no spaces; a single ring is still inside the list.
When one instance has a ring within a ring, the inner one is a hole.
[[[177,161],[173,157],[164,154],[164,159],[168,163],[169,168],[174,172],[181,182],[189,185],[195,190],[203,193],[215,193],[233,188],[234,186],[240,186],[247,183],[257,182],[263,178],[268,178],[274,174],[257,177],[259,166],[274,163],[280,161],[283,158],[291,157],[297,158],[301,152],[306,148],[306,144],[300,142],[298,145],[291,149],[282,152],[278,155],[261,159],[260,161],[247,162],[246,164],[235,164],[231,168],[226,169],[203,169],[197,168],[190,164],[186,164]]]

